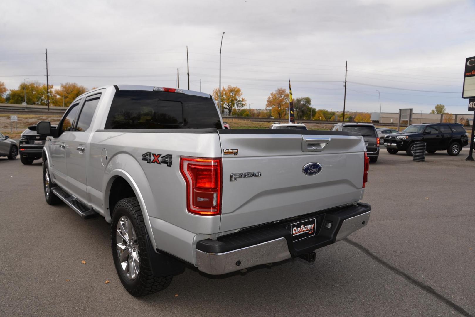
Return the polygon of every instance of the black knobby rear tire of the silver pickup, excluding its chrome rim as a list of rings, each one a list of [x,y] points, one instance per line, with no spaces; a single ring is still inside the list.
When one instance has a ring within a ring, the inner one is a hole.
[[[119,261],[119,255],[117,254],[117,223],[121,217],[127,217],[133,225],[133,230],[137,236],[139,244],[139,272],[135,279],[128,278]],[[114,258],[115,269],[123,287],[135,297],[145,296],[161,291],[168,287],[171,283],[172,275],[166,277],[157,278],[152,274],[152,267],[150,257],[147,252],[146,245],[146,229],[143,221],[142,210],[140,209],[137,198],[130,197],[124,198],[117,202],[114,207],[114,213],[112,214],[111,223],[111,247],[112,256]]]

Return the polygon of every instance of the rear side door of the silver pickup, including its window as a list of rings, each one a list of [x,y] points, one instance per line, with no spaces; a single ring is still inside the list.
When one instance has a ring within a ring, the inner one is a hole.
[[[92,133],[91,123],[101,93],[85,97],[79,110],[75,125],[66,134],[65,155],[67,171],[67,190],[84,203],[88,202],[86,165],[89,160],[89,139]]]

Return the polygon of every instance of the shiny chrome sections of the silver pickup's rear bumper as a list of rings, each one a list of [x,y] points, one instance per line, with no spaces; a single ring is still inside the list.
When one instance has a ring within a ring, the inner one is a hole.
[[[366,226],[370,220],[370,214],[371,211],[367,211],[344,220],[333,242],[342,240],[352,232]],[[226,274],[261,264],[279,262],[291,257],[287,240],[284,237],[223,253],[196,250],[198,269],[211,275]]]

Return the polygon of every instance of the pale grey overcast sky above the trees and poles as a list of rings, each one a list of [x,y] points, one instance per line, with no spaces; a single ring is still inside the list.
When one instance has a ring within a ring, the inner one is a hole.
[[[177,85],[211,93],[239,86],[264,108],[277,87],[313,106],[353,111],[466,114],[465,58],[475,55],[475,2],[395,1],[20,1],[0,3],[0,81],[23,78],[107,84]],[[38,76],[35,76],[38,75]],[[398,88],[398,89],[395,89]]]

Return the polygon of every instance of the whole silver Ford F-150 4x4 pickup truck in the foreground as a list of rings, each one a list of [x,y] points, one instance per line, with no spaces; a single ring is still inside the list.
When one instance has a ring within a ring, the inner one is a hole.
[[[77,97],[57,128],[30,128],[47,136],[47,203],[111,223],[133,296],[166,288],[185,266],[218,275],[313,261],[370,218],[360,134],[224,130],[209,94],[110,85]]]

